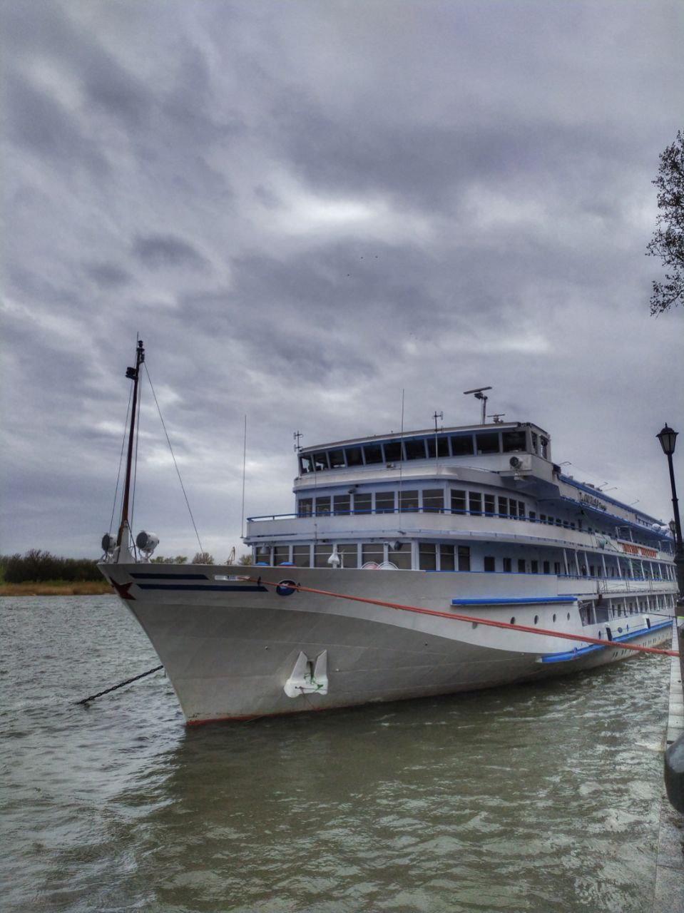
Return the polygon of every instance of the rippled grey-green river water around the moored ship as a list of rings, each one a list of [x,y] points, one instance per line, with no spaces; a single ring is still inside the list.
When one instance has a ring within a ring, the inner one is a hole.
[[[5,913],[643,913],[666,657],[186,729],[111,596],[2,598]]]

